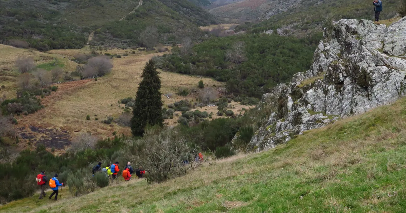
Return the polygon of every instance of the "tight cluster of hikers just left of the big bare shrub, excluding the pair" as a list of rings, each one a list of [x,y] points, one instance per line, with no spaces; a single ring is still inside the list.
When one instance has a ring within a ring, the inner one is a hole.
[[[106,168],[102,168],[102,162],[99,162],[95,167],[93,167],[92,173],[93,176],[95,175],[95,172],[104,172],[108,177],[111,176],[111,178],[114,180],[117,178],[117,173],[120,171],[119,168],[119,161],[116,161],[114,164],[110,165],[107,164]],[[132,179],[132,173],[134,173],[134,169],[131,166],[131,162],[127,162],[127,165],[125,166],[125,169],[123,171],[123,178],[125,181],[129,181]],[[143,168],[138,168],[135,170],[135,174],[138,178],[143,178],[145,174],[145,170]]]

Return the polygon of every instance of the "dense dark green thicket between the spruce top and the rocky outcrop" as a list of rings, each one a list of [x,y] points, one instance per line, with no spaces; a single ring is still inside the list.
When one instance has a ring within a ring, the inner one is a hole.
[[[260,98],[270,88],[309,69],[320,34],[306,39],[268,34],[209,39],[155,58],[164,71],[214,77],[234,95]]]

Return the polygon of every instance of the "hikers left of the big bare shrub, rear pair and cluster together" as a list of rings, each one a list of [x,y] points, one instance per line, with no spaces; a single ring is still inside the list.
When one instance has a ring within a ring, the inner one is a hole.
[[[96,166],[93,167],[92,173],[93,176],[95,175],[95,172],[104,172],[109,178],[111,179],[116,179],[117,178],[117,173],[120,171],[119,168],[119,162],[116,161],[114,164],[110,165],[107,164],[106,168],[102,168],[102,162],[99,162]],[[127,166],[125,166],[125,169],[123,171],[123,178],[125,181],[130,181],[132,178],[132,173],[134,173],[134,169],[131,166],[131,163],[128,162]],[[135,170],[135,174],[138,178],[143,178],[145,174],[145,170],[143,168],[138,168]],[[41,193],[39,194],[39,199],[42,199],[45,197],[47,194],[45,193],[45,187],[46,183],[48,182],[48,177],[45,175],[45,171],[41,171],[40,174],[37,175],[37,185],[40,186]],[[49,185],[51,189],[53,190],[52,194],[48,197],[52,199],[52,197],[55,195],[55,200],[58,200],[58,193],[59,193],[59,187],[63,187],[63,183],[59,183],[58,181],[58,174],[55,174],[52,179],[49,180]]]

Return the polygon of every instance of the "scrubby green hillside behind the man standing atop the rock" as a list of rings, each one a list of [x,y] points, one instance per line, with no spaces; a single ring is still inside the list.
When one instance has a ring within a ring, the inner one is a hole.
[[[399,0],[388,0],[382,3],[384,10],[380,13],[380,19],[389,19],[397,14],[396,8],[400,3]],[[238,30],[259,33],[279,28],[280,34],[294,34],[303,37],[321,31],[329,17],[335,21],[361,18],[374,20],[374,6],[371,2],[361,0],[351,2],[345,0],[303,1],[286,12],[270,16],[269,19],[259,24],[239,26]]]

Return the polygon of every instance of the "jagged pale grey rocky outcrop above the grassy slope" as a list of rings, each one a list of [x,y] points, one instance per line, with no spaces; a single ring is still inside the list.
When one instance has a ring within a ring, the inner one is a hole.
[[[342,19],[324,30],[309,71],[296,73],[262,102],[275,109],[249,149],[273,148],[303,131],[360,114],[405,95],[406,17],[385,26]]]

